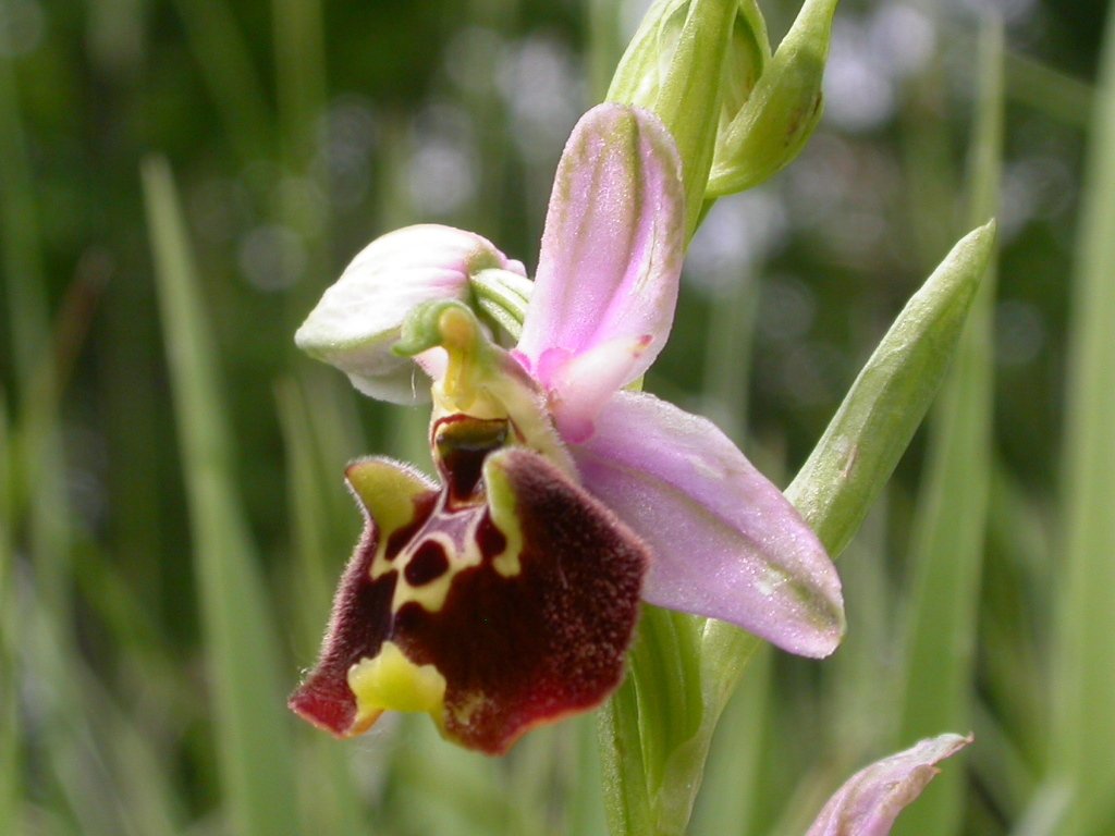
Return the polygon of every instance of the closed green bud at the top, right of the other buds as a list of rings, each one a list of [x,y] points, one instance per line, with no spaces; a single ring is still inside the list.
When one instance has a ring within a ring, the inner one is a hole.
[[[821,120],[821,85],[836,2],[805,0],[755,88],[717,137],[707,197],[757,186],[805,147]]]

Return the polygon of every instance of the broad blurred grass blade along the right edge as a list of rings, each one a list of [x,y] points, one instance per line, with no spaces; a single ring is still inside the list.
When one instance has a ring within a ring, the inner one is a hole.
[[[1070,790],[1061,833],[1115,826],[1115,14],[1108,10],[1082,178],[1064,439],[1053,767]]]

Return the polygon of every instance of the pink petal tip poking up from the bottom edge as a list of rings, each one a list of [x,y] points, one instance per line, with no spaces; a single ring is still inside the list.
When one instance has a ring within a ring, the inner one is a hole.
[[[806,836],[885,836],[902,809],[940,771],[934,765],[971,741],[941,735],[861,769],[828,799]]]

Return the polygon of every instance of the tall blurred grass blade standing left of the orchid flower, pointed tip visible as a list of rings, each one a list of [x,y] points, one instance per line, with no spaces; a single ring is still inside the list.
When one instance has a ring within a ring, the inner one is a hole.
[[[143,182],[229,827],[242,836],[293,836],[300,828],[275,624],[234,488],[216,347],[166,162],[146,161]]]

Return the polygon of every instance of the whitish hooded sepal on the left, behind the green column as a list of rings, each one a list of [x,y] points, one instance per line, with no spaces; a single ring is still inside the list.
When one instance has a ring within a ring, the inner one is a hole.
[[[450,226],[407,226],[372,241],[346,268],[294,334],[311,357],[336,366],[365,395],[413,404],[415,363],[391,351],[407,314],[436,300],[471,303],[471,279],[482,271],[525,276],[489,241]]]

